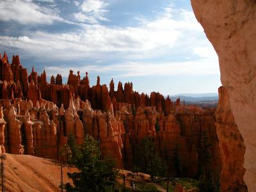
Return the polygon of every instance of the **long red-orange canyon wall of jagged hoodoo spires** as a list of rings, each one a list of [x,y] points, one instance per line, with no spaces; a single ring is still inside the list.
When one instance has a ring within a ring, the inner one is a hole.
[[[46,81],[34,68],[30,75],[19,56],[9,63],[4,53],[0,60],[0,148],[13,154],[30,154],[60,159],[67,136],[72,132],[77,143],[85,134],[99,141],[103,156],[111,155],[119,168],[133,168],[136,146],[145,137],[154,140],[156,151],[168,159],[171,170],[179,150],[182,175],[196,177],[200,172],[204,141],[211,143],[209,166],[220,170],[220,154],[215,109],[173,102],[160,93],[134,92],[132,83],[90,86],[88,73],[82,79],[72,70],[67,84],[61,74]],[[3,115],[1,115],[3,114]]]

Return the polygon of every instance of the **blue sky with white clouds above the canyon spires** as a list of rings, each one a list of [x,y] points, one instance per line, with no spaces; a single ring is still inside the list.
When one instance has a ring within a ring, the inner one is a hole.
[[[88,72],[142,93],[217,93],[218,56],[189,0],[1,0],[0,51],[31,68]]]

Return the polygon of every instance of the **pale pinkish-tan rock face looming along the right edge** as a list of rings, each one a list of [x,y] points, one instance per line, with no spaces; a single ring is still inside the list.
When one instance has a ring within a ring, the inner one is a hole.
[[[256,3],[191,0],[191,4],[219,56],[221,83],[246,148],[244,182],[248,191],[256,191]]]

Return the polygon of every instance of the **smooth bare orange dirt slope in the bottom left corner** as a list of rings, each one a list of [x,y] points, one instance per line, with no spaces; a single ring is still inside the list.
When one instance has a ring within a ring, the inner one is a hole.
[[[63,168],[63,182],[68,182],[67,172]],[[60,191],[60,165],[51,159],[6,154],[4,177],[5,191]]]

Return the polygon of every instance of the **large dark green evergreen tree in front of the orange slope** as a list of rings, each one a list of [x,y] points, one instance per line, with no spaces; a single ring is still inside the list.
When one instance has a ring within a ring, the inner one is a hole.
[[[100,160],[100,150],[97,141],[86,135],[84,143],[76,144],[74,134],[68,136],[70,147],[70,163],[74,164],[79,172],[68,173],[73,185],[65,184],[67,191],[108,191],[116,182],[117,171],[113,159]]]

